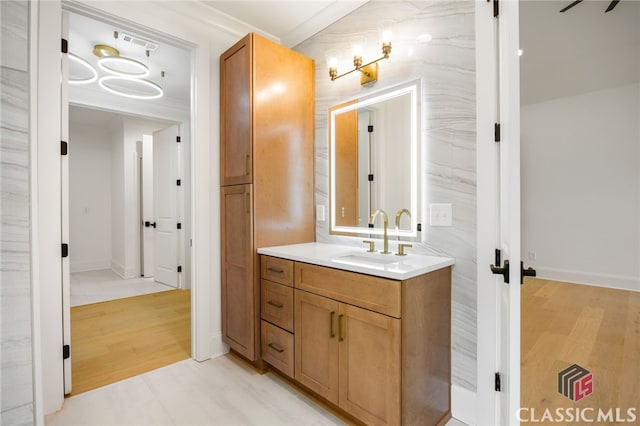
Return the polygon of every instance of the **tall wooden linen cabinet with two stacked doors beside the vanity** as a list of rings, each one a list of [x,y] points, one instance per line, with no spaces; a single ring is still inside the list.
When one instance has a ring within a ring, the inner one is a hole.
[[[313,61],[256,34],[220,57],[222,333],[260,357],[256,248],[315,240]]]

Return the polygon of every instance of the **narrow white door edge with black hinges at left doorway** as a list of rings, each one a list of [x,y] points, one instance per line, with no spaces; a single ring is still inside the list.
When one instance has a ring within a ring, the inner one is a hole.
[[[69,14],[62,13],[62,37],[69,39]],[[69,62],[68,55],[61,57],[60,82],[60,140],[69,141]],[[65,154],[61,147],[61,154]],[[69,275],[69,152],[67,144],[66,155],[60,156],[60,207],[61,207],[61,241],[63,244],[62,257],[62,344],[63,344],[63,373],[64,393],[71,393],[71,283]],[[66,251],[66,255],[65,255]]]

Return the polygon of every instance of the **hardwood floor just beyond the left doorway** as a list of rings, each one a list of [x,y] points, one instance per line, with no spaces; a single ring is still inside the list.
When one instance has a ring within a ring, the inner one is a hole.
[[[191,292],[71,308],[72,395],[191,357]]]

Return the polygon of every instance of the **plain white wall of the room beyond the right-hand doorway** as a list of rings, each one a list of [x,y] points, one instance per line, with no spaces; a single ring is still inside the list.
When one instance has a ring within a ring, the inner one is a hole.
[[[538,276],[640,291],[639,93],[522,107],[522,248]]]

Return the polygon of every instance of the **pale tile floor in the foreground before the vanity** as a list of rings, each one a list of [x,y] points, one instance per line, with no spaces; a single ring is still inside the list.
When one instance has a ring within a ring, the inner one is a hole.
[[[277,375],[229,355],[181,361],[67,398],[46,418],[47,426],[343,424]]]

